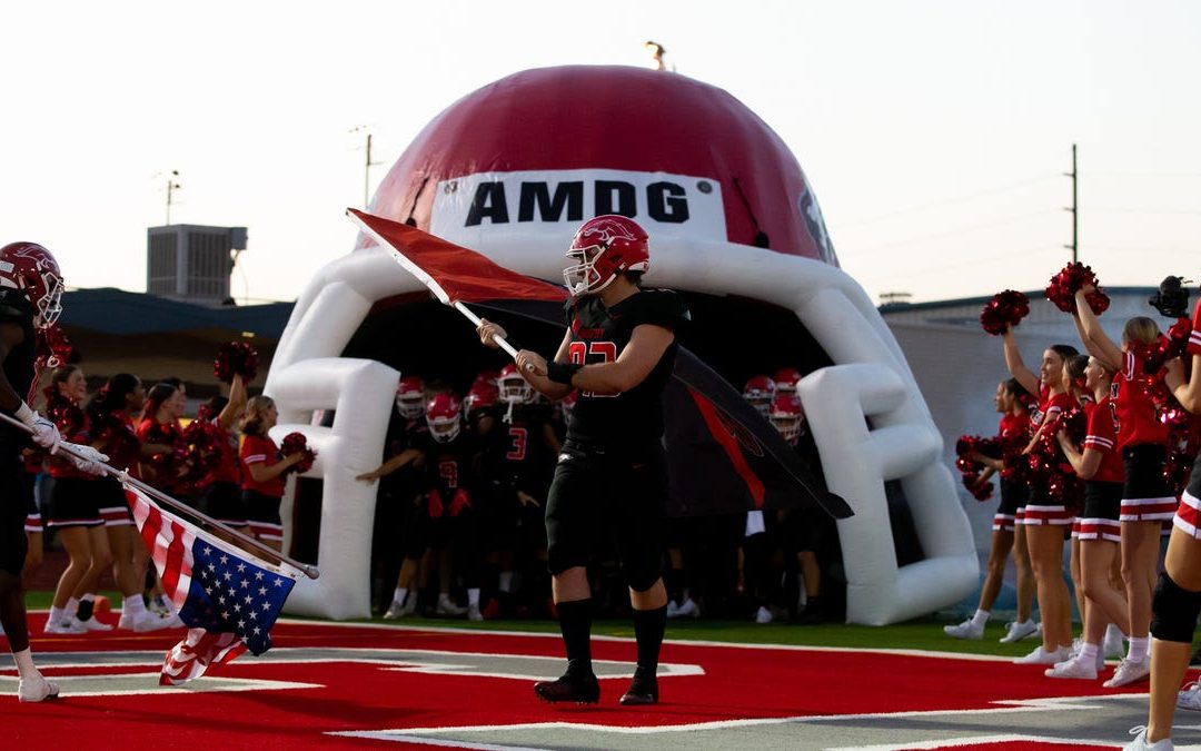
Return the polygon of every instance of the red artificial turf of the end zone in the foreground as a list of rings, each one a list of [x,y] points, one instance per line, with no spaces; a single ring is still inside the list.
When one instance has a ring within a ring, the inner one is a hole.
[[[35,615],[35,620],[41,616]],[[558,657],[557,636],[492,636],[444,631],[349,627],[282,622],[273,631],[281,648],[339,646],[542,655]],[[34,651],[166,651],[180,632],[98,636],[35,634]],[[598,640],[598,660],[632,662],[631,642]],[[450,655],[449,657],[454,657]],[[446,662],[446,657],[432,657]],[[150,695],[82,696],[46,704],[18,705],[12,692],[0,697],[7,743],[47,749],[64,739],[88,739],[91,747],[255,747],[301,749],[363,745],[362,739],[324,735],[334,731],[460,727],[575,721],[615,726],[688,725],[757,717],[986,709],[998,699],[1106,693],[1100,683],[1044,679],[1041,668],[871,652],[749,649],[667,644],[663,661],[698,664],[704,675],[659,679],[662,703],[650,708],[617,704],[627,679],[602,679],[598,705],[548,705],[536,701],[531,681],[388,669],[377,663],[271,663],[250,655],[215,675],[319,684],[319,689],[204,692],[181,695],[155,686],[159,663],[136,668],[50,668],[48,675],[147,674]],[[557,662],[546,663],[554,677]],[[988,680],[978,680],[987,670]],[[149,673],[154,675],[149,675]],[[12,677],[13,670],[4,674]],[[901,684],[890,677],[904,677]],[[208,680],[208,679],[202,679]],[[11,684],[10,684],[11,685]],[[1135,691],[1143,687],[1135,686]],[[1112,692],[1109,692],[1112,693]],[[964,746],[967,747],[967,746]],[[1000,746],[976,746],[993,751]],[[1005,745],[1004,747],[1021,747]],[[1047,750],[1056,746],[1030,745]]]

